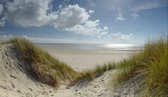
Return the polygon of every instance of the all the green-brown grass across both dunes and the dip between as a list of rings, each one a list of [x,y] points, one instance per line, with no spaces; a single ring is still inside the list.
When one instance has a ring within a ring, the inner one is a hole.
[[[166,97],[168,95],[168,37],[158,41],[149,41],[144,50],[119,63],[104,64],[94,70],[76,72],[65,63],[51,57],[31,42],[15,38],[10,42],[18,52],[18,58],[27,65],[26,72],[37,80],[52,86],[62,81],[74,85],[80,81],[91,81],[104,72],[119,69],[116,82],[124,83],[131,78],[141,76],[145,80],[144,90],[147,97]]]

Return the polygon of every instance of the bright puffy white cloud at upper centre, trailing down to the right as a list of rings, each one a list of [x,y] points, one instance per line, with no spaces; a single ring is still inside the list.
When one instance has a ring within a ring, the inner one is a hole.
[[[90,20],[89,17],[92,13],[94,13],[94,10],[87,12],[86,9],[78,5],[69,5],[61,10],[55,26],[64,28],[68,32],[97,37],[103,36],[107,33],[108,27],[101,28],[99,20]]]

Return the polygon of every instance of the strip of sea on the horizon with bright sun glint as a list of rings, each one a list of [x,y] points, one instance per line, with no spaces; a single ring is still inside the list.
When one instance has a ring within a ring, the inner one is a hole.
[[[83,51],[132,51],[143,50],[140,44],[86,44],[86,43],[37,43],[42,48]]]

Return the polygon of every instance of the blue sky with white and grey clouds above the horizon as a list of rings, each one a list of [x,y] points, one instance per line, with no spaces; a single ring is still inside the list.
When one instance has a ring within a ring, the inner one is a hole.
[[[0,0],[0,40],[143,44],[168,33],[168,0]]]

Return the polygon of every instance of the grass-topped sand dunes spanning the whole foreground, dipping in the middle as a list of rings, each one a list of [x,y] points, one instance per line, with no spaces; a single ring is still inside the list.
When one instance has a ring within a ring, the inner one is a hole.
[[[167,43],[149,41],[119,63],[76,72],[16,38],[0,44],[0,97],[166,97]]]

